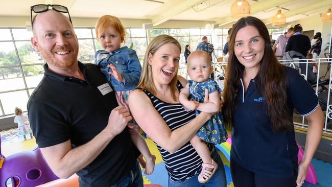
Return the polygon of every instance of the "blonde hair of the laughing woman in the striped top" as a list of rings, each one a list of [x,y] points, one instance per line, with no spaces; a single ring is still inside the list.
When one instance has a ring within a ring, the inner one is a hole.
[[[152,67],[148,62],[148,58],[149,58],[149,54],[154,55],[161,46],[163,46],[165,44],[169,44],[169,43],[175,44],[179,48],[179,50],[180,50],[179,52],[181,52],[181,45],[178,42],[178,40],[176,40],[175,38],[173,38],[172,36],[169,36],[169,35],[159,35],[159,36],[155,37],[149,43],[148,48],[145,52],[145,56],[144,56],[142,73],[140,75],[139,83],[137,85],[138,88],[146,89],[149,92],[151,92],[153,95],[156,95],[156,89],[153,84],[153,78],[152,78],[153,77],[152,76]],[[176,69],[175,74],[176,75],[178,74],[178,69]],[[170,82],[171,96],[174,101],[177,100],[177,97],[175,95],[175,92],[177,90],[176,84],[177,84],[177,76],[174,76],[174,78]]]

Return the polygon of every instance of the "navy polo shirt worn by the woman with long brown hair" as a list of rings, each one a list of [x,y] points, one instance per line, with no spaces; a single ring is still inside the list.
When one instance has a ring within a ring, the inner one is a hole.
[[[303,116],[315,111],[319,103],[310,84],[293,68],[285,67],[284,73],[288,79],[285,105],[291,117],[294,107]],[[240,82],[233,115],[232,159],[263,176],[293,176],[297,171],[298,153],[294,127],[287,132],[275,133],[270,125],[265,98],[256,89],[255,79],[250,81],[246,92],[242,80]]]

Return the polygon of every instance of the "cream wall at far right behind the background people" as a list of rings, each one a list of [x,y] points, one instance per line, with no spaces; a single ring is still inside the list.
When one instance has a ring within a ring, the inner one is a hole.
[[[292,27],[294,27],[296,24],[301,24],[303,31],[314,30],[315,34],[317,32],[322,33],[323,44],[322,44],[322,51],[321,51],[319,57],[325,58],[324,49],[325,49],[326,43],[330,40],[332,21],[323,22],[321,20],[321,17],[319,16],[319,14],[317,14],[314,16],[307,17],[305,19],[291,22]]]

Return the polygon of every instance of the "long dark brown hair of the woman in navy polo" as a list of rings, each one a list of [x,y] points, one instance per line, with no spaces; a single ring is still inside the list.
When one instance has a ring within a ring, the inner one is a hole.
[[[263,21],[256,17],[243,17],[232,28],[229,39],[229,57],[223,91],[224,120],[232,126],[232,118],[236,107],[236,92],[241,85],[244,66],[234,54],[236,33],[246,26],[257,29],[259,35],[265,41],[265,49],[262,60],[259,62],[259,70],[255,77],[255,85],[259,93],[265,98],[267,112],[271,128],[274,132],[283,132],[292,129],[293,122],[287,108],[287,75],[286,69],[274,56],[268,29]]]

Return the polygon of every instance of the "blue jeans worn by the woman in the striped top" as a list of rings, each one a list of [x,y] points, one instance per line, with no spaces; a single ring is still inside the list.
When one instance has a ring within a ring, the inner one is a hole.
[[[200,183],[198,181],[198,175],[196,174],[193,177],[183,180],[183,181],[173,181],[169,177],[169,187],[198,187],[198,186],[204,186],[204,187],[225,187],[226,186],[226,174],[225,174],[225,168],[223,161],[221,160],[219,154],[217,153],[216,149],[211,154],[211,158],[214,159],[218,163],[218,169],[216,170],[214,176],[210,180],[208,180],[205,183]]]

